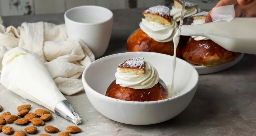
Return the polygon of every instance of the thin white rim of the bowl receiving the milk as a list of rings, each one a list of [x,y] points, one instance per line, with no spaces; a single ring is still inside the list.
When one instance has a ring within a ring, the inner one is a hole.
[[[147,54],[147,53],[150,53],[152,55],[162,55],[162,56],[167,56],[167,57],[173,57],[173,56],[170,56],[170,55],[167,55],[167,54],[162,54],[162,53],[156,53],[156,52],[124,52],[124,53],[117,53],[117,54],[112,54],[112,55],[108,55],[108,56],[105,56],[105,57],[102,57],[100,59],[97,59],[95,60],[94,62],[92,62],[88,67],[85,68],[85,70],[83,71],[83,74],[82,74],[82,82],[83,82],[83,85],[84,85],[84,89],[85,91],[90,91],[91,93],[93,93],[94,95],[98,95],[98,96],[101,96],[103,98],[106,98],[107,100],[110,100],[110,101],[116,101],[116,102],[123,102],[123,103],[127,103],[127,104],[155,104],[155,103],[162,103],[162,102],[167,102],[167,101],[171,101],[173,99],[176,99],[176,98],[179,98],[179,97],[182,97],[183,95],[189,93],[190,91],[192,91],[195,87],[197,87],[198,85],[198,81],[199,81],[199,75],[198,75],[198,72],[197,70],[191,65],[189,64],[188,62],[186,62],[185,60],[183,59],[180,59],[180,58],[177,58],[177,61],[182,61],[183,63],[187,63],[190,65],[190,67],[193,68],[193,70],[196,72],[196,82],[195,84],[193,84],[192,88],[190,88],[188,91],[186,91],[185,93],[182,93],[182,94],[179,94],[179,95],[176,95],[174,97],[171,97],[171,98],[168,98],[168,99],[164,99],[164,100],[158,100],[158,101],[144,101],[144,102],[140,102],[140,101],[125,101],[125,100],[120,100],[120,99],[116,99],[116,98],[111,98],[111,97],[108,97],[106,95],[103,95],[97,91],[95,91],[94,89],[92,89],[86,82],[85,80],[85,73],[88,71],[88,69],[94,64],[94,63],[97,63],[98,61],[101,61],[101,60],[104,60],[108,57],[113,57],[113,56],[116,56],[116,55],[122,55],[122,54]],[[86,94],[87,95],[87,94]]]

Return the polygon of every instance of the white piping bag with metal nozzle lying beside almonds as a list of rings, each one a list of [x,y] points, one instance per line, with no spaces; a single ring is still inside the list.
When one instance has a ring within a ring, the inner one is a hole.
[[[81,123],[80,117],[56,86],[39,55],[16,47],[4,54],[2,65],[0,83],[8,90],[76,125]]]

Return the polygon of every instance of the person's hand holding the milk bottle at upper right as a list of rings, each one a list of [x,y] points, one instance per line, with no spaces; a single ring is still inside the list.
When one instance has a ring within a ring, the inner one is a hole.
[[[215,7],[232,4],[234,4],[236,17],[241,17],[243,13],[246,13],[246,17],[256,17],[256,0],[220,0]],[[212,22],[210,12],[205,19],[205,23]]]

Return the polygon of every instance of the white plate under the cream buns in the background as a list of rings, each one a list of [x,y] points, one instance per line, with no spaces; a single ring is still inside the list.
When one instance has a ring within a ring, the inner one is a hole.
[[[132,32],[130,34],[133,35],[138,29],[136,29],[134,32]],[[127,39],[127,42],[130,38],[130,36]],[[199,66],[199,65],[193,65],[192,66],[197,70],[199,75],[204,75],[204,74],[211,74],[211,73],[215,73],[215,72],[220,72],[226,69],[229,69],[231,67],[233,67],[234,65],[236,65],[238,62],[240,62],[244,57],[244,54],[241,54],[237,59],[235,59],[234,61],[230,62],[230,63],[226,63],[226,64],[222,64],[222,65],[218,65],[218,66],[211,66],[211,67],[206,67],[206,66]]]

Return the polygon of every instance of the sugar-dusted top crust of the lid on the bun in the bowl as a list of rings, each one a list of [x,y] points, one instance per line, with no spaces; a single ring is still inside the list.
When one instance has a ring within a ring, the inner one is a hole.
[[[144,70],[144,58],[138,57],[138,58],[132,58],[129,60],[124,61],[122,64],[120,64],[118,67],[121,68],[138,68],[140,70]]]

